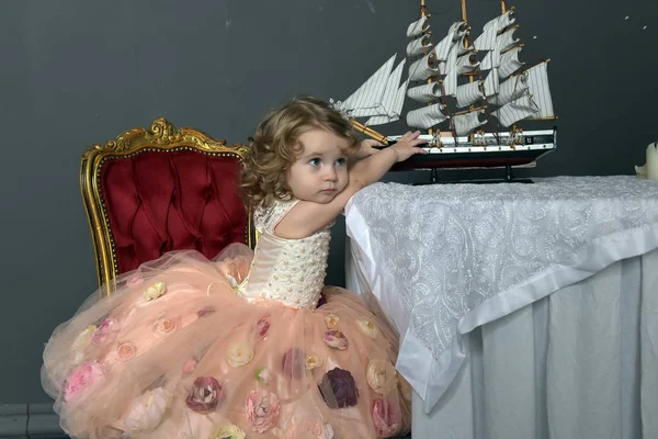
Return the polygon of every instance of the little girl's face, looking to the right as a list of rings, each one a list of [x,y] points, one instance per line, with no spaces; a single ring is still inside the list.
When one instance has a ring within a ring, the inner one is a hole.
[[[297,200],[329,203],[348,185],[349,142],[320,128],[299,136],[303,146],[291,166],[287,183]]]

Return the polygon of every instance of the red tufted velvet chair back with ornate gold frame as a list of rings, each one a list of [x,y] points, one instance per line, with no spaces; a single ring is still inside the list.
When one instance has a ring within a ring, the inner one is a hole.
[[[87,149],[80,189],[102,294],[116,275],[167,251],[213,258],[231,243],[251,246],[237,191],[246,150],[163,117]]]

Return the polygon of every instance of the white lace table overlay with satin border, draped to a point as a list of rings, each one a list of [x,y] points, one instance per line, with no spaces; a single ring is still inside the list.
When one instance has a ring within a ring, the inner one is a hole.
[[[377,183],[345,214],[348,279],[400,331],[396,367],[428,414],[465,370],[465,334],[658,248],[658,182],[633,177]]]

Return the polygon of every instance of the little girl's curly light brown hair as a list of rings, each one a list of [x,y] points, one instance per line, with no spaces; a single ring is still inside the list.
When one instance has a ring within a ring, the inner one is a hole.
[[[320,128],[349,142],[348,156],[360,147],[359,133],[327,102],[299,97],[271,110],[250,139],[241,175],[241,195],[249,210],[269,206],[274,200],[290,200],[287,173],[302,151],[299,136]]]

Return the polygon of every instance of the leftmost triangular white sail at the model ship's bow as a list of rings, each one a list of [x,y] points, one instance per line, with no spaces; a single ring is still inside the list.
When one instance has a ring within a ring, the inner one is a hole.
[[[386,90],[386,82],[395,63],[396,55],[388,58],[386,63],[367,81],[365,81],[354,93],[338,105],[339,110],[353,117],[366,117],[378,115],[382,97]]]

